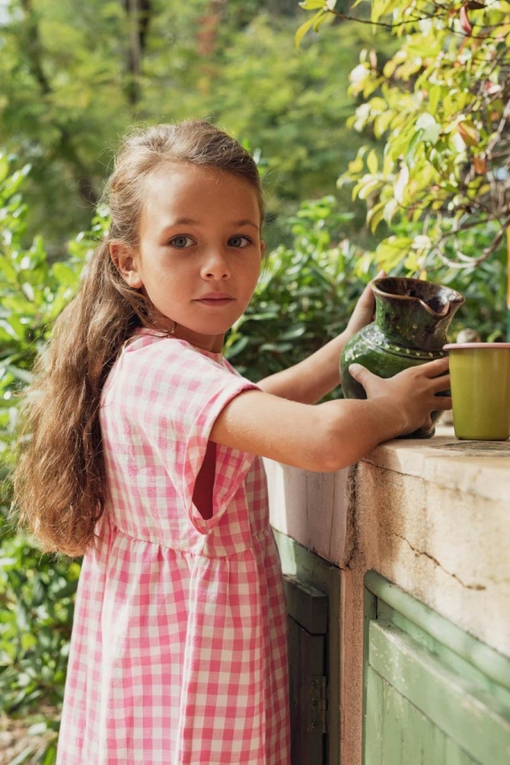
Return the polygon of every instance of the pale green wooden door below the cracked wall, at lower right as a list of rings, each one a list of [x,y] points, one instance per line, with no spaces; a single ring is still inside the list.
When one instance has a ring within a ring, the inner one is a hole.
[[[380,580],[365,591],[364,765],[509,765],[510,661],[433,611],[431,635],[429,610]]]

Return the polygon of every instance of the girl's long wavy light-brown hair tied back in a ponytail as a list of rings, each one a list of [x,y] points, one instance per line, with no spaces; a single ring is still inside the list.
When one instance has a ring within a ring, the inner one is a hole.
[[[155,172],[175,162],[244,178],[263,217],[253,158],[210,123],[161,124],[125,139],[104,193],[109,233],[87,265],[78,294],[57,319],[22,407],[13,507],[20,525],[48,552],[81,556],[95,539],[106,499],[101,391],[123,343],[137,328],[161,328],[161,316],[148,298],[117,271],[110,243],[137,248],[147,184]]]

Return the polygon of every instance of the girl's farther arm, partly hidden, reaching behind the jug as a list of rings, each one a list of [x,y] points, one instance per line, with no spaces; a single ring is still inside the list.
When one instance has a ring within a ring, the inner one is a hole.
[[[302,404],[315,404],[341,383],[340,357],[345,343],[373,319],[374,298],[370,286],[357,301],[346,329],[294,367],[265,377],[257,384],[267,393]]]

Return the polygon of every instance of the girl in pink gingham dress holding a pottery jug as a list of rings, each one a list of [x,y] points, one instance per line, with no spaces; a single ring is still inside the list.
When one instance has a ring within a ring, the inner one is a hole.
[[[286,608],[260,457],[336,470],[449,408],[441,359],[367,400],[342,335],[255,385],[222,357],[263,260],[255,162],[207,122],[134,134],[112,225],[28,397],[20,520],[84,555],[59,765],[289,765]],[[443,375],[443,376],[439,376]],[[256,456],[255,456],[256,455]]]

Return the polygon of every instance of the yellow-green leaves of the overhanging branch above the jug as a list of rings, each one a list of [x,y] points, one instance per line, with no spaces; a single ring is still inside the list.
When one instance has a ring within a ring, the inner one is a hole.
[[[334,0],[310,3],[303,7],[321,14],[316,27],[345,18]],[[369,23],[389,29],[399,47],[385,63],[362,53],[349,89],[361,103],[349,123],[384,149],[362,148],[341,184],[355,182],[373,232],[391,229],[403,212],[427,232],[382,242],[382,263],[407,249],[411,272],[462,269],[502,248],[510,225],[509,19],[506,0],[371,2]]]

